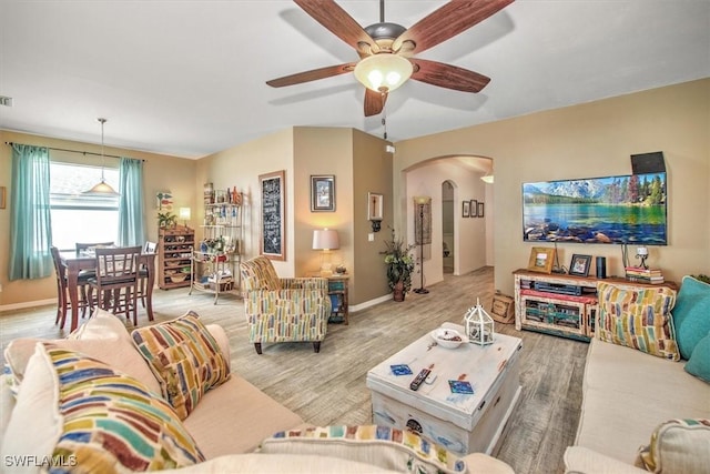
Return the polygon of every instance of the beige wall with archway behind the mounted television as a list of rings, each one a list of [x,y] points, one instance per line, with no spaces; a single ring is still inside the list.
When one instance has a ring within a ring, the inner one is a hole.
[[[521,236],[524,182],[630,174],[630,155],[662,151],[668,170],[669,245],[650,248],[650,264],[680,282],[710,272],[710,79],[534,113],[396,143],[395,175],[425,160],[476,154],[494,160],[496,288],[513,291],[511,272],[527,266]],[[407,215],[404,180],[395,180],[397,219]],[[619,245],[559,244],[604,255],[623,274]]]

